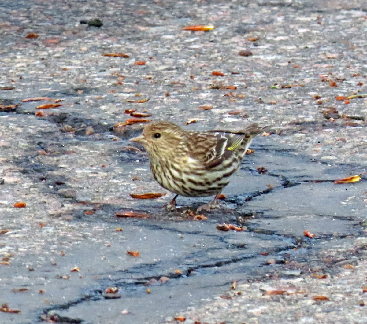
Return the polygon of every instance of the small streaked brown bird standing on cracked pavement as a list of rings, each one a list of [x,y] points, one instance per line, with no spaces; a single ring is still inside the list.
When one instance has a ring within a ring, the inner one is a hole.
[[[148,152],[156,181],[178,195],[206,197],[214,201],[240,167],[251,140],[268,127],[252,124],[242,131],[185,131],[169,121],[144,127],[143,134],[130,141],[141,143]],[[200,210],[205,209],[204,206]]]

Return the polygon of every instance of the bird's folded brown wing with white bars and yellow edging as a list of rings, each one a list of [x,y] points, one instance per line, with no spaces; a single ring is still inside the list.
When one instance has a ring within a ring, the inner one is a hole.
[[[246,134],[226,131],[212,131],[197,134],[196,145],[190,150],[190,157],[207,169],[221,164],[239,148]]]

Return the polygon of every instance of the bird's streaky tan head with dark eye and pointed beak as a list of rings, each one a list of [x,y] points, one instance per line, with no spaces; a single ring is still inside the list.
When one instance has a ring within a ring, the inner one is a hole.
[[[130,141],[140,143],[144,146],[149,155],[167,155],[174,152],[185,136],[177,125],[169,121],[156,121],[144,127],[143,133]]]

